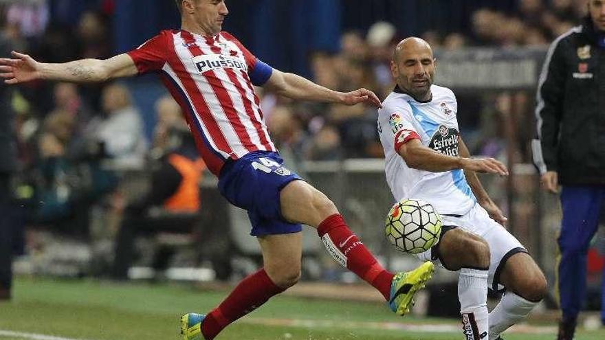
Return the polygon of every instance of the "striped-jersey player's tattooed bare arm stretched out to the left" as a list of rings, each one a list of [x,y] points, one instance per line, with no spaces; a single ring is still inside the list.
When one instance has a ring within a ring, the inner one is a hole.
[[[6,84],[32,80],[63,82],[104,82],[113,78],[134,76],[137,67],[128,54],[119,54],[107,60],[82,59],[69,63],[39,63],[27,54],[12,52],[12,58],[0,58],[0,78]]]

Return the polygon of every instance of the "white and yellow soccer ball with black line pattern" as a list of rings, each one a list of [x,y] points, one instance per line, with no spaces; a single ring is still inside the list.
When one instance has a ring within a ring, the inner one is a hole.
[[[386,216],[385,233],[399,251],[421,253],[437,245],[441,235],[441,216],[432,205],[419,199],[402,199]]]

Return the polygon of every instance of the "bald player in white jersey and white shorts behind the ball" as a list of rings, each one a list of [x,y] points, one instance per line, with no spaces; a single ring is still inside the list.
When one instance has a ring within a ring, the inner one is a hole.
[[[470,158],[459,134],[454,93],[432,84],[435,64],[422,39],[406,38],[395,49],[391,72],[397,87],[378,111],[386,180],[397,201],[422,199],[443,216],[439,244],[418,256],[460,271],[466,339],[498,339],[542,300],[547,282],[501,225],[506,218],[476,177],[476,172],[507,175],[506,167],[495,159]],[[488,286],[506,290],[489,316]]]

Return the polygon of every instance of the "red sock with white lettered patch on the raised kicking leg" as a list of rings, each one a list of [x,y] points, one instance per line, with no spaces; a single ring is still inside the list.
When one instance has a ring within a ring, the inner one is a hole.
[[[355,234],[340,214],[329,216],[317,227],[330,255],[366,282],[374,286],[384,299],[391,295],[393,273],[386,271]]]

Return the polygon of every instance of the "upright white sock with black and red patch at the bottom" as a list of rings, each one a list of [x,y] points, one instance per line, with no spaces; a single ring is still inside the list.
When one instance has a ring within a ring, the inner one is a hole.
[[[467,340],[489,336],[487,314],[487,270],[460,269],[458,299],[462,316],[462,331]]]

